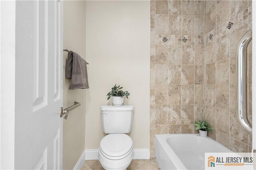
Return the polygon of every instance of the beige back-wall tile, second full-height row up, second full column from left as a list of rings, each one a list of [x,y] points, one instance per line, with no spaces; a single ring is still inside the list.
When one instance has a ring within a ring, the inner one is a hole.
[[[169,105],[180,104],[180,85],[169,85],[168,86],[168,101]]]

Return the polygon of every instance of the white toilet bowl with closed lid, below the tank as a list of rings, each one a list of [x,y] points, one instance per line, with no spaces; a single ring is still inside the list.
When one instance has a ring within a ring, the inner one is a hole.
[[[108,134],[100,141],[98,158],[106,170],[125,170],[133,154],[132,139],[126,134]]]

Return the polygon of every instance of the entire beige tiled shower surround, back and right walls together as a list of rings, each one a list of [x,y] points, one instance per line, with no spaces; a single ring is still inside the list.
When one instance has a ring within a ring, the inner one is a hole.
[[[250,27],[251,1],[151,1],[150,151],[154,134],[194,133],[206,119],[209,136],[236,152],[251,136],[235,115],[236,45]],[[248,115],[251,120],[251,45]]]

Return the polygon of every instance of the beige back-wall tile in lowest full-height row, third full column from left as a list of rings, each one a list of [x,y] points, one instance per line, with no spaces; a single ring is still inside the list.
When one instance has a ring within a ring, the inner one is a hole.
[[[194,105],[181,105],[181,124],[194,124]]]

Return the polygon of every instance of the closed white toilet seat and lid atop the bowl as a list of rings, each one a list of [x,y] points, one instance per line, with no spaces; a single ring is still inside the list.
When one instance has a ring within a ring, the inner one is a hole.
[[[125,158],[132,151],[132,138],[127,134],[108,134],[100,141],[99,152],[111,160]]]

